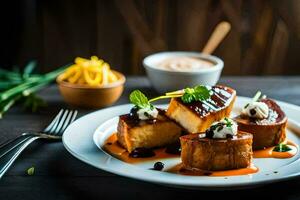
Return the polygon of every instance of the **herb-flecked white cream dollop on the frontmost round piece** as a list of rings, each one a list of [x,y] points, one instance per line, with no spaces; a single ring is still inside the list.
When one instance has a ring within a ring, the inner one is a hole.
[[[232,119],[225,118],[221,121],[213,123],[208,129],[206,134],[207,137],[217,138],[217,139],[225,139],[232,138],[237,135],[238,125]]]

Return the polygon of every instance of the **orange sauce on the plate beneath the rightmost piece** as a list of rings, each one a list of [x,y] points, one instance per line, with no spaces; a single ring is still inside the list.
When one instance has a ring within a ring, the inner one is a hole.
[[[298,145],[295,144],[294,142],[288,140],[285,142],[290,148],[290,151],[287,152],[276,152],[273,151],[275,147],[268,147],[262,150],[256,150],[253,151],[253,157],[254,158],[291,158],[295,156],[298,152]]]

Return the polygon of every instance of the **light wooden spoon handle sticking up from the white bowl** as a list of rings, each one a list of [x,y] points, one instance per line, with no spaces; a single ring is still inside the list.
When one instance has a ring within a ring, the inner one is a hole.
[[[202,53],[211,54],[230,31],[230,28],[231,26],[228,22],[219,23],[204,46]]]

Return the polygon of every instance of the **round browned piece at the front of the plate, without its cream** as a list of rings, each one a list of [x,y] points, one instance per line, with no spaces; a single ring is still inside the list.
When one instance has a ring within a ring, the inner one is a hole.
[[[180,137],[184,168],[230,170],[249,167],[252,162],[252,135],[238,132],[232,139],[199,138],[199,134]]]

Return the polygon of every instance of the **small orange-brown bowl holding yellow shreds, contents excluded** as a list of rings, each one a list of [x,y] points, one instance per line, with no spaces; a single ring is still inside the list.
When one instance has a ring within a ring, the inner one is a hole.
[[[61,75],[56,78],[59,91],[64,100],[73,106],[83,108],[101,108],[115,103],[121,96],[125,76],[112,70],[118,77],[118,81],[105,86],[86,86],[72,84],[61,80]]]

